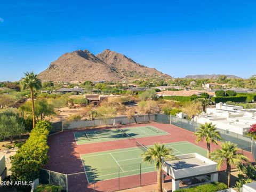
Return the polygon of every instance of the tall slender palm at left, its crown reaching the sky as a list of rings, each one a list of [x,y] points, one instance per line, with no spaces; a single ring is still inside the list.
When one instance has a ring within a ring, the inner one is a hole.
[[[30,89],[30,97],[32,103],[32,117],[33,117],[33,128],[35,127],[35,103],[34,103],[34,90],[38,90],[42,88],[42,83],[38,79],[37,75],[34,72],[24,73],[25,77],[21,78],[20,86],[21,89]]]

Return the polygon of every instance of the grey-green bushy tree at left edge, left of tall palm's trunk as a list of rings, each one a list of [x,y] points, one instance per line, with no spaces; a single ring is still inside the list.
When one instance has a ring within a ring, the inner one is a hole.
[[[9,138],[12,143],[13,137],[25,133],[25,126],[18,111],[14,108],[0,112],[0,137]]]

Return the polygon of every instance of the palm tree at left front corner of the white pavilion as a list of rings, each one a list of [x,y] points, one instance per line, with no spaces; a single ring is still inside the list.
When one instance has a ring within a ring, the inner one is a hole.
[[[157,191],[162,192],[162,159],[166,160],[175,160],[178,159],[173,154],[171,148],[165,147],[164,144],[154,143],[153,147],[149,147],[148,150],[143,152],[141,156],[143,157],[142,161],[148,163],[154,163],[157,170]]]

